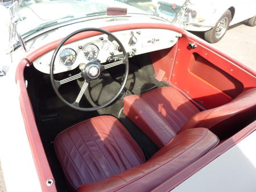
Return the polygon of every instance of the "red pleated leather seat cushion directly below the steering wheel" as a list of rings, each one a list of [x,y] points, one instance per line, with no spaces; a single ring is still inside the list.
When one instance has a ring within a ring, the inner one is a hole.
[[[61,132],[55,151],[73,189],[141,165],[141,148],[113,116],[97,116]]]

